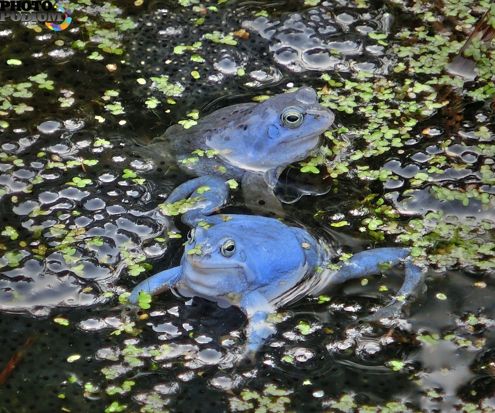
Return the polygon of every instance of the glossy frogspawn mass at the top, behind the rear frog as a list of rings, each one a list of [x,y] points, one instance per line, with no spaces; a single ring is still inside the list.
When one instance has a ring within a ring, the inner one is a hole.
[[[324,1],[316,8],[298,8],[281,9],[273,13],[276,19],[256,16],[259,8],[244,3],[225,14],[205,9],[193,13],[205,19],[200,25],[192,25],[188,13],[155,10],[139,18],[129,39],[129,67],[145,78],[167,76],[170,84],[188,91],[190,107],[201,107],[205,93],[225,97],[263,87],[277,93],[284,79],[297,79],[295,73],[307,79],[303,72],[388,72],[387,47],[368,37],[389,33],[392,18],[386,7],[363,12]],[[212,41],[214,33],[222,41]]]

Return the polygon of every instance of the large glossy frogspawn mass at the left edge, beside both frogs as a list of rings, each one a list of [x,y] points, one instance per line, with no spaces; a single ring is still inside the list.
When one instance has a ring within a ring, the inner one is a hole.
[[[0,147],[0,188],[12,201],[3,205],[11,205],[3,227],[16,231],[13,243],[23,240],[0,257],[1,310],[45,316],[55,306],[94,304],[129,267],[144,271],[139,262],[165,252],[154,238],[166,234],[168,220],[137,202],[150,200],[153,188],[122,178],[115,164],[84,173],[94,136],[80,129],[49,121],[40,134]]]

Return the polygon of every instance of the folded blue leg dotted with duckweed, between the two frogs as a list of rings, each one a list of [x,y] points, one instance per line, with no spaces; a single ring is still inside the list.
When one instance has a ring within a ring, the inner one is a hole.
[[[227,203],[228,195],[229,187],[223,178],[214,175],[199,176],[175,188],[165,200],[165,204],[197,198],[198,201],[189,207],[181,218],[185,224],[195,227],[208,215],[218,212],[218,209]]]

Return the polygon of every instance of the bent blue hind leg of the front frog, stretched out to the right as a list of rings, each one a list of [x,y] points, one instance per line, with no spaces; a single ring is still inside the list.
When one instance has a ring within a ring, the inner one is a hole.
[[[400,310],[406,303],[405,298],[418,294],[424,287],[424,276],[421,269],[413,264],[410,248],[376,248],[358,252],[348,263],[339,262],[339,265],[343,267],[336,274],[330,275],[323,285],[319,283],[322,286],[320,291],[329,284],[341,284],[348,280],[380,274],[384,267],[394,267],[401,260],[405,260],[405,277],[402,287],[397,291],[396,297],[383,309],[373,314],[370,320],[396,317],[400,315]],[[322,276],[325,276],[325,271]]]

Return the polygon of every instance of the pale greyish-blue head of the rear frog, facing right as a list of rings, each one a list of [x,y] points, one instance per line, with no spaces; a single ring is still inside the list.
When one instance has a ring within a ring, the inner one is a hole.
[[[233,165],[264,172],[306,158],[334,119],[314,89],[300,87],[239,111],[207,144]]]

